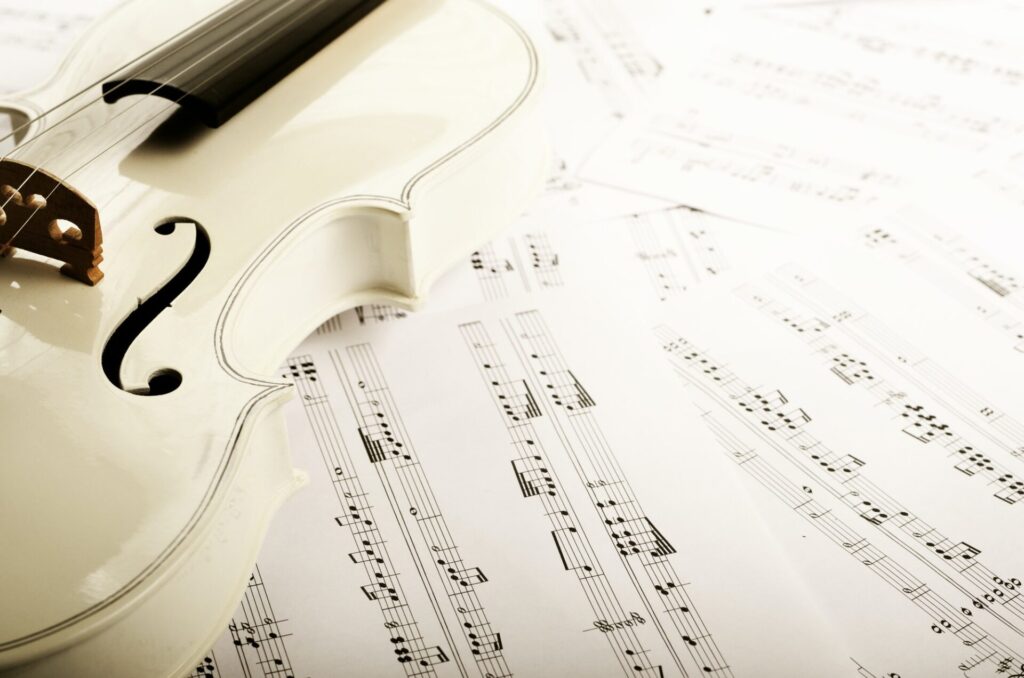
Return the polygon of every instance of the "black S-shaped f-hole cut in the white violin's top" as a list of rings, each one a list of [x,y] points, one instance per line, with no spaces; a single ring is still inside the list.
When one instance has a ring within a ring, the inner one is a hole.
[[[112,384],[122,390],[124,386],[121,383],[121,365],[132,343],[165,308],[170,307],[185,288],[191,285],[210,260],[210,237],[199,223],[182,219],[167,220],[157,224],[154,230],[160,236],[170,236],[176,228],[189,225],[196,228],[196,245],[187,261],[166,285],[140,303],[118,326],[103,346],[100,361],[103,373]],[[165,395],[176,390],[181,385],[182,379],[181,373],[177,370],[163,368],[150,375],[147,388],[133,389],[130,392],[135,395]]]

